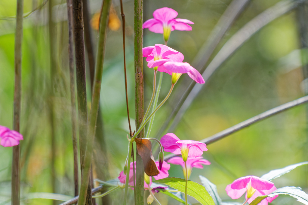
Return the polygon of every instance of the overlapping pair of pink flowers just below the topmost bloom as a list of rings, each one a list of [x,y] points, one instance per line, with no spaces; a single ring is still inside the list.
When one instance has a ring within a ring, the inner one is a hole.
[[[172,76],[172,84],[175,84],[183,73],[187,73],[197,83],[205,83],[202,75],[189,63],[183,63],[182,53],[169,48],[166,45],[155,44],[142,49],[143,57],[146,57],[149,68]]]

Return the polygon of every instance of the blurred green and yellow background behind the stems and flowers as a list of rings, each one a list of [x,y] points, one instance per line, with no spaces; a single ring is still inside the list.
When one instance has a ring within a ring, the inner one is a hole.
[[[192,31],[173,31],[168,46],[184,54],[184,62],[191,63],[201,45],[207,40],[230,0],[144,0],[144,21],[152,18],[154,10],[169,7],[178,18],[193,21]],[[278,1],[253,0],[225,34],[211,58],[224,43],[252,18],[274,6]],[[30,12],[42,0],[24,0],[24,13]],[[52,204],[48,199],[26,199],[30,192],[53,192],[51,187],[51,121],[49,102],[55,102],[56,158],[55,192],[74,195],[73,150],[71,140],[70,90],[68,68],[68,34],[66,1],[54,2],[53,20],[56,22],[56,68],[61,74],[58,95],[50,95],[50,59],[48,33],[48,3],[41,10],[24,19],[22,43],[22,116],[21,133],[21,198],[22,204]],[[99,12],[101,1],[90,0],[91,17]],[[128,120],[125,106],[123,45],[119,1],[113,1],[116,15],[109,25],[101,91],[101,112],[107,147],[108,179],[118,177],[127,155]],[[126,52],[128,96],[132,129],[135,129],[134,61],[133,61],[133,1],[124,1],[126,15]],[[16,1],[0,0],[0,124],[12,128],[14,93],[14,18]],[[120,24],[119,24],[120,23]],[[119,25],[118,25],[119,24]],[[92,30],[96,50],[97,31]],[[164,44],[162,34],[144,30],[144,47]],[[277,18],[253,35],[222,66],[193,101],[175,134],[181,140],[202,140],[270,108],[304,96],[304,82],[300,60],[300,33],[297,10]],[[87,57],[86,57],[87,61]],[[144,61],[145,62],[145,61]],[[153,70],[144,63],[145,108],[152,94]],[[88,65],[87,65],[88,72]],[[177,103],[175,96],[184,92],[180,83],[170,99],[156,113],[151,137],[168,118]],[[90,78],[87,78],[87,82]],[[170,89],[171,77],[164,73],[161,101]],[[87,85],[88,106],[91,88]],[[289,164],[308,161],[307,105],[270,117],[208,146],[204,158],[212,164],[193,169],[191,180],[200,183],[198,175],[217,185],[223,201],[234,201],[225,192],[233,180],[246,176],[261,176],[268,171]],[[164,133],[165,134],[165,133]],[[155,143],[153,143],[155,144]],[[168,153],[165,153],[168,154]],[[10,204],[12,149],[0,147],[0,204]],[[274,179],[275,186],[296,186],[308,191],[308,167],[300,167]],[[80,173],[79,173],[80,175]],[[183,178],[182,168],[171,165],[169,176]],[[94,177],[97,177],[94,168]],[[80,179],[80,177],[79,177]],[[97,184],[96,184],[97,186]],[[133,200],[132,191],[129,192]],[[148,192],[146,192],[146,197]],[[178,204],[163,194],[156,194],[162,204]],[[123,197],[117,190],[111,195],[112,204]],[[189,199],[196,203],[193,199]],[[235,200],[242,202],[241,199]],[[100,203],[99,200],[97,200]],[[58,203],[58,202],[57,202]],[[156,204],[153,202],[153,204]],[[272,204],[300,204],[295,199],[279,196]]]

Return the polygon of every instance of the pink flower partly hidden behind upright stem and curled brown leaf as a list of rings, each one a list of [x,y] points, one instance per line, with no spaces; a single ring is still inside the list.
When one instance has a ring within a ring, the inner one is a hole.
[[[159,162],[155,162],[156,166],[159,167]],[[167,164],[167,162],[164,161],[163,166],[161,170],[159,170],[159,174],[157,176],[154,176],[156,180],[158,179],[163,179],[169,176],[168,170],[170,169],[170,164]],[[135,162],[135,173],[136,173],[136,162]],[[131,162],[130,165],[130,171],[129,171],[129,179],[128,179],[128,185],[134,186],[134,180],[133,180],[133,163]],[[126,182],[126,175],[121,171],[118,179],[120,180],[121,183]],[[150,177],[150,185],[152,184],[152,177]],[[148,188],[148,185],[144,182],[144,187]]]

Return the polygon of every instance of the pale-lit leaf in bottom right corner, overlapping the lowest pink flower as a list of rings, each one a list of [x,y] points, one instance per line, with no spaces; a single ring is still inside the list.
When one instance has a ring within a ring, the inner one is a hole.
[[[293,198],[297,199],[299,202],[308,205],[308,194],[302,191],[301,187],[282,187],[272,193],[264,196],[258,196],[254,199],[249,205],[257,205],[266,197],[274,197],[276,195],[290,195]]]

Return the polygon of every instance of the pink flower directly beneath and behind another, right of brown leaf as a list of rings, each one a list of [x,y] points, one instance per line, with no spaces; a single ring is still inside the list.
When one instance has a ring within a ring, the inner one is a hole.
[[[186,177],[185,163],[182,157],[172,157],[170,160],[168,160],[168,163],[181,165],[183,168],[184,177]],[[202,164],[210,165],[211,163],[208,160],[203,159],[202,156],[201,157],[188,157],[186,161],[188,178],[191,175],[194,167],[198,169],[203,169]]]

